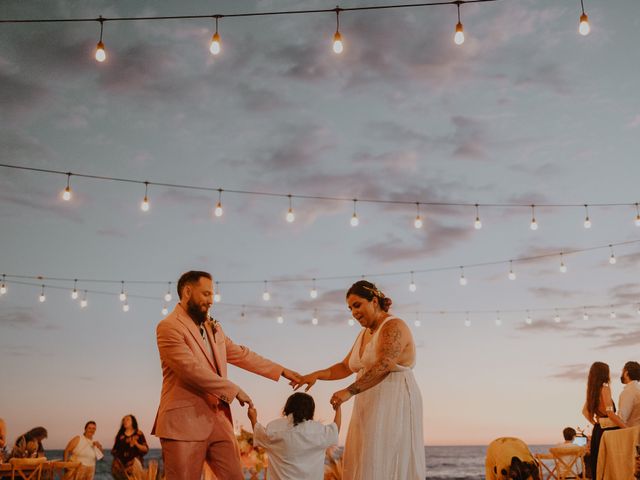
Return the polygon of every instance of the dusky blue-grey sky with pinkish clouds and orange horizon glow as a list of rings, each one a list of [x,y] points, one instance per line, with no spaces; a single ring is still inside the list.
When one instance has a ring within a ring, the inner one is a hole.
[[[132,413],[157,447],[155,326],[168,282],[173,289],[191,269],[220,282],[212,312],[234,341],[301,373],[344,358],[358,333],[344,293],[363,275],[375,282],[418,347],[428,445],[555,443],[565,426],[586,427],[589,365],[611,366],[617,399],[640,343],[640,244],[614,247],[615,265],[606,247],[640,240],[631,206],[640,201],[640,4],[609,3],[585,0],[586,37],[578,1],[463,5],[461,46],[453,6],[343,12],[341,55],[331,50],[331,13],[223,18],[217,57],[211,19],[107,22],[102,64],[93,59],[97,22],[0,24],[0,163],[214,189],[151,185],[142,212],[142,184],[72,176],[64,202],[66,176],[0,167],[9,440],[43,425],[45,448],[63,448],[93,419],[111,446]],[[7,0],[0,17],[334,7]],[[354,228],[350,201],[294,198],[287,223],[286,196],[227,192],[216,218],[217,188],[410,203],[358,202]],[[476,230],[473,207],[422,205],[416,229],[411,202],[578,206],[537,208],[532,231],[528,208],[480,207]],[[585,229],[580,205],[595,203],[623,205],[590,207]],[[564,255],[562,274],[558,253],[572,250],[587,251]],[[547,254],[514,262],[514,281],[498,263],[466,268],[459,284],[458,266]],[[80,308],[72,282],[18,278],[38,275],[113,282],[79,281],[89,291]],[[149,282],[125,282],[128,312],[121,280]],[[261,421],[280,415],[284,379],[235,367],[229,375]],[[313,388],[317,419],[333,418],[329,398],[351,381]],[[242,409],[233,412],[248,426]]]

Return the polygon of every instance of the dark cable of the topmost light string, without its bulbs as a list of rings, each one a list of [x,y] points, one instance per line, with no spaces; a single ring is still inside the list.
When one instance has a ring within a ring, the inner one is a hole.
[[[397,3],[392,5],[363,5],[360,7],[335,7],[304,10],[272,10],[265,12],[239,12],[227,14],[206,15],[155,15],[139,17],[103,17],[99,18],[26,18],[26,19],[0,19],[0,23],[79,23],[79,22],[131,22],[148,20],[195,20],[202,18],[242,18],[242,17],[269,17],[278,15],[304,15],[313,13],[356,12],[366,10],[394,10],[404,8],[436,7],[441,5],[460,5],[465,3],[490,3],[498,0],[453,0],[447,2],[422,2],[422,3]]]

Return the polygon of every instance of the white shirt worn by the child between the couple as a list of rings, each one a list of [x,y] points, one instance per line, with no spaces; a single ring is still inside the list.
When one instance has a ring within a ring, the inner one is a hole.
[[[307,420],[294,426],[291,415],[253,429],[253,444],[269,455],[270,480],[322,480],[324,452],[337,443],[335,423]]]

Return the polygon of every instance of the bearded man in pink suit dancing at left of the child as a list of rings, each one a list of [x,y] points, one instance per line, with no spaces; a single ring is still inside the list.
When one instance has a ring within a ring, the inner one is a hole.
[[[300,376],[236,345],[209,318],[213,281],[190,271],[178,281],[180,302],[156,329],[162,394],[151,433],[160,437],[167,480],[199,480],[206,461],[220,480],[242,480],[229,404],[253,402],[227,379],[227,362],[272,380]]]

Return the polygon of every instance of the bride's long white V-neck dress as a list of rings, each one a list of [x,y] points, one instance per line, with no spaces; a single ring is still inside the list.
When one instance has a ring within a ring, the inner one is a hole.
[[[395,317],[388,317],[384,323]],[[376,363],[376,330],[360,356],[365,329],[356,339],[349,368],[360,378]],[[414,363],[397,365],[387,377],[355,396],[344,449],[344,480],[424,480],[422,396]]]

